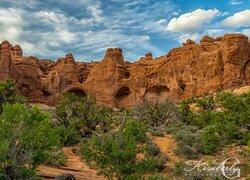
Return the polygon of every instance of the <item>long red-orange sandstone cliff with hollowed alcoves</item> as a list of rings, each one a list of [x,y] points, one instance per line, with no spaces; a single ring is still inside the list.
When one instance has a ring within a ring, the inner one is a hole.
[[[76,62],[72,54],[56,62],[23,56],[20,46],[0,44],[0,80],[17,82],[30,102],[55,104],[66,92],[94,95],[100,104],[132,106],[145,98],[175,101],[206,92],[250,84],[250,43],[242,34],[205,36],[200,44],[183,47],[153,59],[124,61],[119,48],[110,48],[100,62]]]

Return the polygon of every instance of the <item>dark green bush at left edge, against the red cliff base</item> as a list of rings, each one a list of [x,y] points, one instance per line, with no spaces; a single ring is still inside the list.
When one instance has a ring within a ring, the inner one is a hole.
[[[19,96],[16,89],[16,84],[11,79],[6,79],[0,82],[0,114],[4,104],[25,103],[25,98]]]

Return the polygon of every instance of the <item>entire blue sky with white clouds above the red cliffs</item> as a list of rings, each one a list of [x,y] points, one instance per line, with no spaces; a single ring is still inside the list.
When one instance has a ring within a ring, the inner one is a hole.
[[[120,47],[136,61],[226,33],[250,37],[250,0],[0,0],[0,41],[41,59],[98,61]]]

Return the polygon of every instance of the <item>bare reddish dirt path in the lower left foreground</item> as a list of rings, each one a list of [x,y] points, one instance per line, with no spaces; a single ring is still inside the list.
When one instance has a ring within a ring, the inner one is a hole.
[[[73,147],[64,147],[63,152],[68,156],[66,167],[50,167],[50,166],[40,166],[38,168],[38,176],[43,179],[54,179],[58,175],[62,174],[72,174],[77,180],[104,180],[103,176],[97,175],[97,170],[90,169],[87,164],[82,162],[81,158],[73,153]]]

